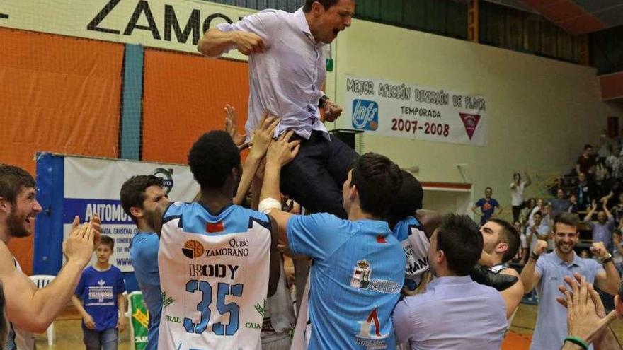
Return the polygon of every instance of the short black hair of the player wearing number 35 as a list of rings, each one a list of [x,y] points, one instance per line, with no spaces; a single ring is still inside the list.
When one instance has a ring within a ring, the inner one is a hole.
[[[188,153],[188,165],[202,189],[222,187],[232,169],[240,169],[240,153],[232,136],[213,130],[200,136]]]

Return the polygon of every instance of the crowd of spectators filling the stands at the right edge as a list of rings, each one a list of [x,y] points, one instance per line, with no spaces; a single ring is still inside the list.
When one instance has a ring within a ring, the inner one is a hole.
[[[623,138],[602,132],[597,146],[586,144],[573,168],[554,181],[544,198],[524,198],[525,187],[532,183],[527,172],[524,175],[514,173],[510,183],[513,223],[522,240],[515,262],[525,264],[537,240],[546,240],[553,250],[551,221],[568,212],[578,216],[585,233],[586,249],[580,246],[578,254],[591,257],[590,240],[602,242],[623,274]]]

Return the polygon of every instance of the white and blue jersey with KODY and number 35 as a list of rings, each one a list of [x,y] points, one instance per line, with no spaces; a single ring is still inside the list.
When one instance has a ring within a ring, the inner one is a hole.
[[[162,218],[158,349],[261,349],[270,221],[231,205],[174,203]]]

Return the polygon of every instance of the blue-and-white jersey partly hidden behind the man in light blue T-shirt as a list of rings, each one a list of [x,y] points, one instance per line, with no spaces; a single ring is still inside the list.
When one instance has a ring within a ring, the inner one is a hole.
[[[428,270],[428,247],[430,242],[424,231],[424,226],[413,216],[407,216],[394,226],[396,237],[406,257],[404,269],[404,285],[408,290],[414,291],[420,284],[421,276]]]

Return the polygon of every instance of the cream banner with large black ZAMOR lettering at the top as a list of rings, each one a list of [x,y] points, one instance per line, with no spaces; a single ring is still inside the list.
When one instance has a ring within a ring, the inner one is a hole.
[[[203,0],[1,0],[0,27],[198,54],[205,30],[254,12]]]

